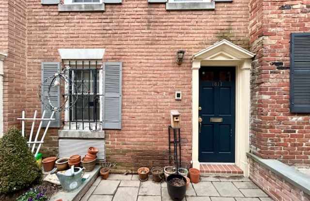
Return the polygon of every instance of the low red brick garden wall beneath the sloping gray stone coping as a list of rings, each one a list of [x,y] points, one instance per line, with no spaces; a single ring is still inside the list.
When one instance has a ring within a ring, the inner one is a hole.
[[[275,201],[310,201],[310,196],[250,159],[249,178]]]

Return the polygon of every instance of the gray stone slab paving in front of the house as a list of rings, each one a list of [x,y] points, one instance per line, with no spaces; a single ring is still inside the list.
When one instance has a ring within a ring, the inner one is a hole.
[[[166,182],[152,177],[140,182],[138,175],[110,174],[98,177],[81,201],[172,201]],[[267,194],[245,177],[201,177],[190,184],[183,201],[272,201]]]

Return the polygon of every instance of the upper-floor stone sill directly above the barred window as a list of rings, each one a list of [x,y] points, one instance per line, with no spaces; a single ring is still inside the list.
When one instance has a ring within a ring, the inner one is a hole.
[[[59,12],[80,12],[80,11],[105,11],[104,3],[92,3],[92,4],[59,4]]]

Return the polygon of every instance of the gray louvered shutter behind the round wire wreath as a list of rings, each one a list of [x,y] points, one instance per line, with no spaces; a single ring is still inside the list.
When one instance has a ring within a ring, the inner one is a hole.
[[[41,97],[41,99],[43,100],[43,104],[41,106],[42,108],[42,112],[43,110],[45,111],[45,118],[49,118],[53,112],[53,110],[51,108],[48,108],[47,106],[49,105],[48,103],[48,99],[47,99],[47,93],[48,93],[48,87],[50,85],[50,83],[45,82],[44,81],[55,75],[55,73],[59,73],[60,72],[60,63],[59,62],[42,62],[41,63],[41,94],[43,97]],[[50,81],[52,81],[52,79],[48,79]],[[44,86],[43,86],[44,83]],[[50,89],[50,101],[52,103],[53,106],[55,107],[59,107],[60,106],[60,87],[56,86],[56,87],[52,87]],[[54,121],[51,121],[49,127],[60,127],[60,114],[59,112],[55,112],[54,114]],[[47,126],[48,121],[44,121],[43,122],[43,127]]]

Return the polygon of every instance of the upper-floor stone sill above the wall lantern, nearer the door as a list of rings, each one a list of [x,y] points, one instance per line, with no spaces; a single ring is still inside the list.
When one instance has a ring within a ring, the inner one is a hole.
[[[185,2],[166,3],[166,10],[213,10],[215,1],[212,2]]]

